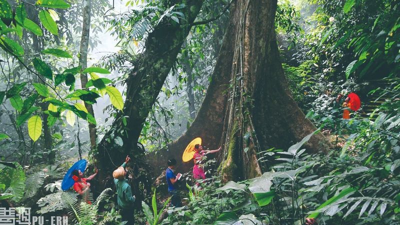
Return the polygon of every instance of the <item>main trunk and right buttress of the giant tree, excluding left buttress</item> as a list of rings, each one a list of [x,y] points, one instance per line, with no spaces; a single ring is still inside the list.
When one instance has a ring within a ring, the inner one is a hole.
[[[279,60],[274,26],[277,0],[239,0],[238,4],[244,23],[236,37],[238,54],[233,64],[239,66],[232,72],[225,122],[224,181],[259,175],[257,151],[286,149],[316,129],[293,100]],[[319,152],[329,144],[318,133],[305,147]]]

